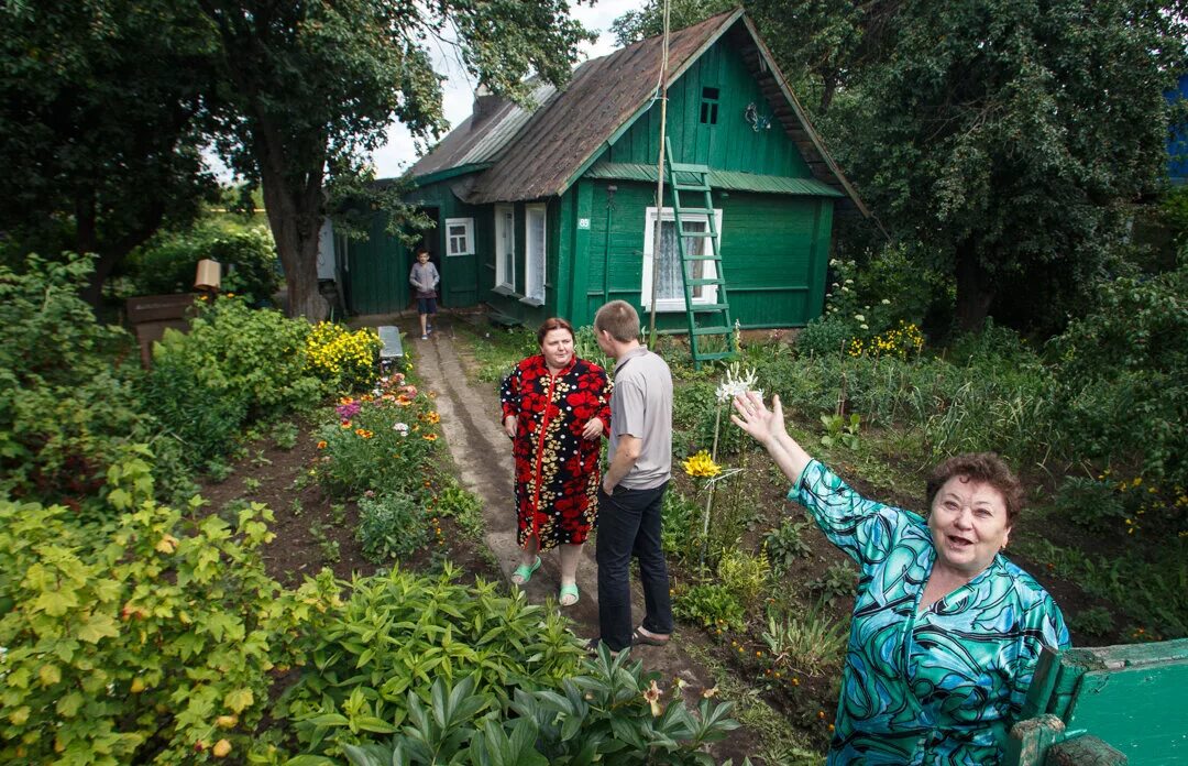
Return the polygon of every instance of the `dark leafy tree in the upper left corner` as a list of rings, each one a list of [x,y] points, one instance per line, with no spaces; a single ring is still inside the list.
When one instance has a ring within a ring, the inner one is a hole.
[[[164,0],[0,2],[0,241],[96,253],[84,291],[214,189],[195,115],[201,18]]]

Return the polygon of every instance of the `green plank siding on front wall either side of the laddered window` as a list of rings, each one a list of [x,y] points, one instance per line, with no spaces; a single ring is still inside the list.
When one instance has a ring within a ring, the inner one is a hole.
[[[575,295],[575,324],[589,324],[607,300],[643,304],[644,215],[653,195],[653,187],[621,183],[608,207],[607,184],[594,184],[588,278]],[[731,193],[715,194],[714,206],[722,211],[732,315],[748,328],[803,326],[819,316],[833,200]],[[657,326],[680,329],[684,314],[661,313]]]

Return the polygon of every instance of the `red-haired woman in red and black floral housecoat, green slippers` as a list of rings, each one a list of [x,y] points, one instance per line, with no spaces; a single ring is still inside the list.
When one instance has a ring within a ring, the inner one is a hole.
[[[513,440],[523,585],[539,551],[561,547],[562,607],[577,603],[577,563],[598,516],[600,437],[611,428],[606,370],[574,354],[574,328],[549,319],[536,333],[541,353],[504,381],[504,432]]]

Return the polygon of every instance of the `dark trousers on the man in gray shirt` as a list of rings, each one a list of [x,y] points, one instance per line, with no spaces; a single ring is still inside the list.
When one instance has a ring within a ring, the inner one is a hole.
[[[602,641],[615,652],[631,646],[631,557],[639,559],[644,586],[643,626],[672,632],[668,566],[661,547],[661,507],[668,482],[653,489],[598,491],[598,617]]]

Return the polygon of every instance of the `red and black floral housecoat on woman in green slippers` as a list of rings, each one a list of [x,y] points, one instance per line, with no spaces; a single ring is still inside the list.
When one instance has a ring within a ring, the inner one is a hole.
[[[611,433],[611,385],[606,370],[576,357],[551,376],[539,354],[504,381],[504,420],[519,417],[513,456],[520,545],[536,535],[546,551],[589,536],[602,440],[582,439],[582,428],[598,417],[602,434]]]

